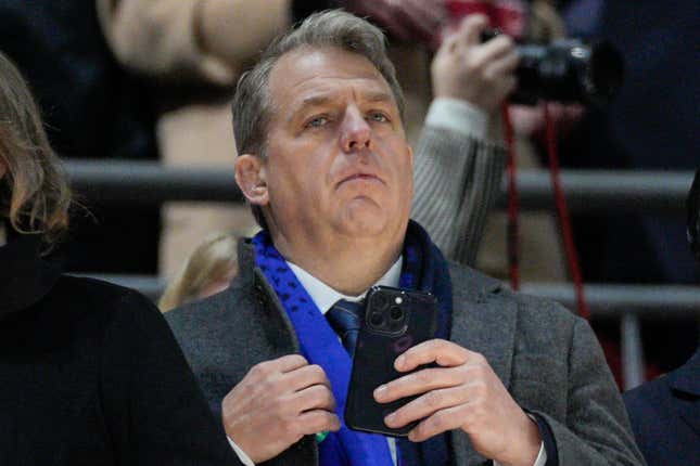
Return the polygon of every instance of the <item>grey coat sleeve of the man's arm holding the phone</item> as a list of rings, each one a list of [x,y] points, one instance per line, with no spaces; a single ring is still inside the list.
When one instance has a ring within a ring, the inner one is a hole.
[[[645,465],[622,398],[587,322],[577,319],[569,352],[565,425],[536,413],[549,426],[560,465]]]

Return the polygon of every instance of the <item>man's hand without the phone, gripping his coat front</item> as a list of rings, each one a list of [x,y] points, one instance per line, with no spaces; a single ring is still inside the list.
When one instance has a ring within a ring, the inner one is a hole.
[[[326,373],[298,354],[255,365],[221,407],[226,433],[256,464],[305,435],[341,427]]]

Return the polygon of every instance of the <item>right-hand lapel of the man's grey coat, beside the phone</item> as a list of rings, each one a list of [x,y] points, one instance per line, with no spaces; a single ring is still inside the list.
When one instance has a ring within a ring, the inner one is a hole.
[[[501,299],[502,285],[470,270],[451,268],[453,327],[450,339],[482,353],[504,383],[510,385],[514,347],[517,305]],[[476,453],[461,430],[451,435],[455,464],[478,465],[488,459]]]

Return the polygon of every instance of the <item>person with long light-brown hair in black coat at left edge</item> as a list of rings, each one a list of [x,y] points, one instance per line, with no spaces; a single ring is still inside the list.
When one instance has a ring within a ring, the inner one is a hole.
[[[47,254],[71,193],[0,54],[0,464],[240,464],[158,310]],[[110,245],[105,245],[110,247]]]

